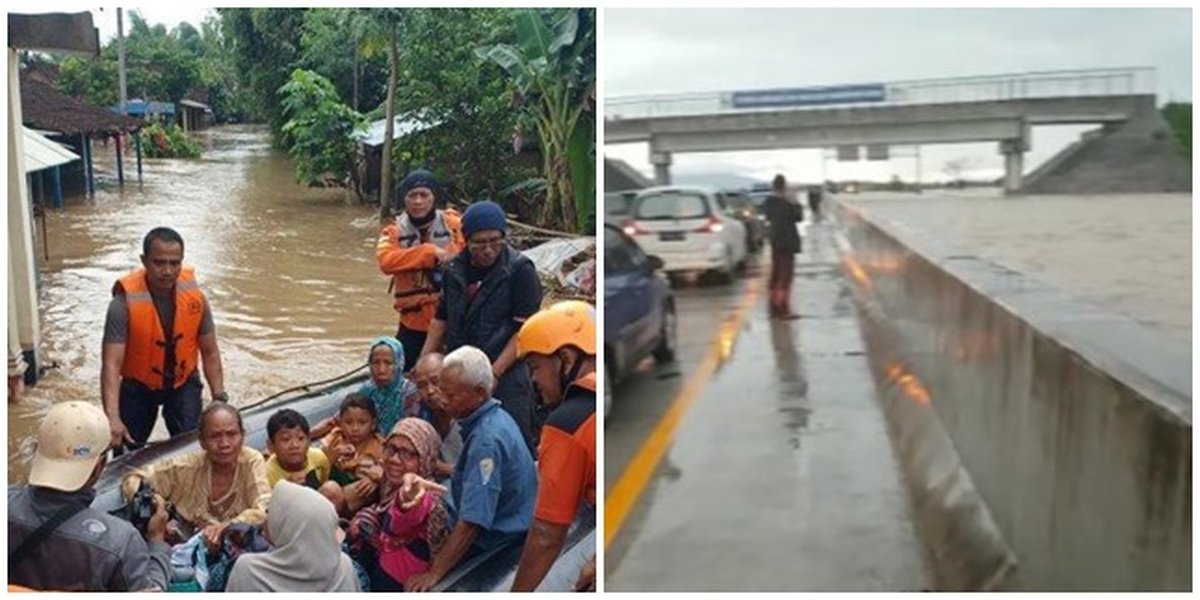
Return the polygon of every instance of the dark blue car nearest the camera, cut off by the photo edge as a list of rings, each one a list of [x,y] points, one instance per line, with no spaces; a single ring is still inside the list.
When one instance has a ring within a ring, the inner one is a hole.
[[[647,256],[620,228],[604,227],[605,379],[619,383],[646,356],[674,360],[676,319],[671,284],[659,272],[662,260]],[[605,414],[612,396],[605,397]]]

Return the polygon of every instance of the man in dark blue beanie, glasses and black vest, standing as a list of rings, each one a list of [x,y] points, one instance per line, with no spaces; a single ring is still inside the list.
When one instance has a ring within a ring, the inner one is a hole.
[[[506,241],[508,220],[499,204],[472,204],[462,215],[467,251],[445,268],[445,290],[430,324],[424,353],[474,346],[492,361],[500,401],[536,455],[538,404],[529,368],[517,360],[517,331],[541,308],[541,280],[529,257]]]

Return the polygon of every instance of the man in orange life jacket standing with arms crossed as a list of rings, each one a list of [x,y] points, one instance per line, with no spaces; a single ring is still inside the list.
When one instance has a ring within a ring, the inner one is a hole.
[[[396,222],[383,228],[376,245],[379,270],[391,275],[392,307],[400,313],[396,340],[412,361],[421,355],[430,322],[442,295],[440,268],[464,246],[462,224],[454,210],[438,210],[442,185],[432,173],[414,170],[396,187]]]

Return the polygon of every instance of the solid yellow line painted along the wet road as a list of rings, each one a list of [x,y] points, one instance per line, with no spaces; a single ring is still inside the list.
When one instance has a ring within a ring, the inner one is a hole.
[[[750,312],[750,308],[755,305],[755,300],[758,298],[758,287],[761,284],[761,276],[750,280],[742,295],[742,301],[733,310],[730,318],[725,319],[718,328],[716,335],[709,344],[708,353],[700,362],[700,366],[688,376],[688,380],[679,389],[679,392],[676,394],[674,400],[671,401],[671,407],[666,414],[662,415],[654,431],[642,443],[642,448],[634,455],[634,460],[625,467],[625,472],[620,474],[617,485],[608,491],[608,496],[604,502],[605,550],[608,550],[612,540],[617,538],[617,532],[625,523],[625,517],[629,516],[630,510],[637,504],[637,499],[642,497],[642,492],[646,491],[646,485],[649,484],[650,476],[654,475],[659,462],[662,461],[662,456],[671,445],[671,440],[674,439],[676,428],[679,427],[679,422],[683,421],[692,402],[696,401],[696,396],[704,389],[704,384],[713,377],[716,367],[728,358],[733,341],[745,323],[746,313]]]

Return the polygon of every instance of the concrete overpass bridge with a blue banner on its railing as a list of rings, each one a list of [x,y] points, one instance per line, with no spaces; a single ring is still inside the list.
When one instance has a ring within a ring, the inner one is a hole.
[[[648,142],[666,185],[678,152],[996,142],[1014,192],[1032,126],[1124,124],[1154,110],[1153,68],[1052,71],[605,98],[605,143]]]

